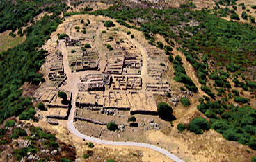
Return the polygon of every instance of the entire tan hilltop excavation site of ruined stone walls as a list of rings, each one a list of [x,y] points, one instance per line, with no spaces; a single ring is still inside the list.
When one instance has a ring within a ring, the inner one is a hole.
[[[162,78],[166,54],[131,37],[129,28],[116,22],[106,27],[104,21],[91,15],[67,17],[42,47],[48,51],[41,69],[45,82],[34,97],[47,111],[38,117],[54,125],[74,117],[79,132],[98,138],[161,129],[154,96],[170,92]],[[59,92],[67,94],[66,102]],[[131,116],[136,127],[130,127]],[[111,121],[118,133],[106,129]]]

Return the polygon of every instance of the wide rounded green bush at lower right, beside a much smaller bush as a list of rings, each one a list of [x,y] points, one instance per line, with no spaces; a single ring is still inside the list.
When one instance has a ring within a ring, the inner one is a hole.
[[[210,128],[210,124],[202,117],[193,118],[189,123],[189,131],[195,134],[202,134],[202,130],[209,130]]]

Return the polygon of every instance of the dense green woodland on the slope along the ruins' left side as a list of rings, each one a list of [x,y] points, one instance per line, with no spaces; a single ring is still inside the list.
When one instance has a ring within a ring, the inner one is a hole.
[[[22,89],[19,88],[24,82],[44,82],[37,71],[45,62],[44,54],[47,51],[38,51],[38,48],[45,44],[58,24],[61,24],[56,13],[64,8],[65,5],[58,6],[52,11],[55,16],[45,15],[35,25],[26,28],[26,41],[0,54],[0,123],[10,116],[19,116],[22,112],[20,119],[33,118],[35,111],[31,106],[31,98],[22,98]]]

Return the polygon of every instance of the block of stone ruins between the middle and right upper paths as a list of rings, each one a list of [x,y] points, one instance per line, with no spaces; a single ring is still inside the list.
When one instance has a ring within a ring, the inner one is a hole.
[[[140,75],[142,66],[141,52],[121,35],[112,33],[110,37],[102,36],[106,47],[107,63],[104,73]],[[111,49],[112,48],[112,49]]]

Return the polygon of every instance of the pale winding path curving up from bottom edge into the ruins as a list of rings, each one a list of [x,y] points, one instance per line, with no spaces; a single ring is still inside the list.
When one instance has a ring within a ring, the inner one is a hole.
[[[99,39],[99,32],[96,33],[96,39]],[[133,43],[135,43],[135,41],[133,40]],[[166,156],[168,156],[168,158],[170,158],[173,161],[178,161],[178,162],[184,162],[182,159],[179,159],[179,157],[175,156],[174,154],[168,152],[168,150],[165,150],[161,147],[157,147],[155,145],[150,145],[147,143],[136,143],[136,142],[122,142],[122,141],[106,141],[106,140],[102,140],[99,138],[95,138],[95,137],[90,137],[90,136],[86,136],[85,134],[81,134],[75,127],[74,127],[74,113],[76,112],[76,107],[75,107],[75,100],[76,100],[76,96],[78,93],[78,89],[77,89],[77,83],[79,82],[79,78],[82,75],[85,75],[86,73],[102,73],[103,68],[101,68],[101,71],[86,71],[86,72],[80,72],[80,73],[72,73],[70,71],[69,65],[68,65],[68,60],[67,60],[67,48],[65,47],[65,42],[61,41],[61,51],[63,54],[63,65],[64,65],[64,70],[65,73],[67,74],[67,84],[65,86],[62,86],[63,89],[67,89],[69,91],[72,92],[72,108],[70,110],[70,116],[68,118],[68,123],[67,123],[67,127],[70,130],[70,132],[72,132],[72,134],[74,134],[75,136],[78,136],[79,138],[83,138],[86,141],[91,141],[93,143],[101,143],[104,145],[119,145],[119,146],[135,146],[135,147],[146,147],[152,150],[155,150],[157,152],[161,152],[162,154],[165,154]],[[138,42],[136,42],[136,45],[138,46]],[[141,48],[141,46],[138,46],[139,48]],[[141,49],[141,51],[144,51],[144,53],[146,53],[145,49]],[[99,53],[100,54],[100,53]],[[145,58],[144,58],[144,62],[145,62]],[[105,62],[104,62],[105,64]],[[144,64],[145,66],[145,64]]]

